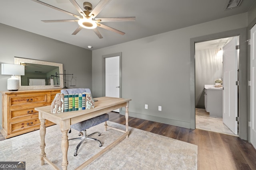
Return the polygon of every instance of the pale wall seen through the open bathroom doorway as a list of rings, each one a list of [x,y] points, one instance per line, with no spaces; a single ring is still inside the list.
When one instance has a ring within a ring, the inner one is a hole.
[[[215,84],[214,81],[217,78],[222,78],[222,56],[217,56],[218,51],[219,48],[195,51],[195,100],[197,108],[205,108],[204,85]]]

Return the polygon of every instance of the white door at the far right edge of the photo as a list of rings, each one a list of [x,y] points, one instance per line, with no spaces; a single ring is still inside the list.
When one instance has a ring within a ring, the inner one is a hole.
[[[251,29],[250,39],[250,142],[256,148],[256,25]]]

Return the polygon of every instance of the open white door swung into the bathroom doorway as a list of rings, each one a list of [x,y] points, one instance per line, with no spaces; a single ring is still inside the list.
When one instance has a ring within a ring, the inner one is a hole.
[[[223,47],[223,123],[234,133],[238,134],[238,36]]]

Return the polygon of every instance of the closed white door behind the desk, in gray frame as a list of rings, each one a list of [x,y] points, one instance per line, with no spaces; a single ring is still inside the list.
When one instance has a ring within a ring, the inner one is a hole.
[[[120,89],[120,66],[119,66],[119,56],[109,57],[105,59],[105,72],[106,72],[106,96],[119,98]],[[119,113],[119,109],[114,110]]]

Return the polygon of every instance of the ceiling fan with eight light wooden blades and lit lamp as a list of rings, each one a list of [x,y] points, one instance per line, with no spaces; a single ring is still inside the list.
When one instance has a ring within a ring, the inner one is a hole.
[[[82,10],[82,8],[80,8],[80,6],[77,4],[75,0],[70,0],[70,2],[74,5],[74,7],[80,13],[81,16],[77,16],[76,14],[72,14],[70,12],[51,6],[39,0],[32,0],[32,1],[78,18],[78,20],[42,20],[43,22],[78,22],[79,26],[72,33],[72,35],[76,35],[82,28],[87,28],[87,29],[92,29],[99,38],[103,38],[100,32],[98,31],[97,27],[101,27],[109,31],[114,31],[116,33],[124,35],[125,34],[124,32],[114,29],[112,27],[109,27],[107,25],[104,25],[102,24],[102,22],[135,21],[135,17],[95,18],[111,0],[100,0],[100,2],[95,6],[94,9],[92,9],[92,4],[90,2],[84,2],[83,7],[85,11]]]

